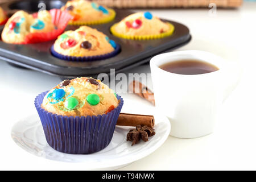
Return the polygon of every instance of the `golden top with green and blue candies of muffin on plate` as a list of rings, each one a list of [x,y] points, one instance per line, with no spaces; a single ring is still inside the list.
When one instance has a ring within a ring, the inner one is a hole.
[[[106,114],[118,106],[116,94],[100,80],[80,77],[64,80],[44,96],[41,107],[53,114],[92,116]]]

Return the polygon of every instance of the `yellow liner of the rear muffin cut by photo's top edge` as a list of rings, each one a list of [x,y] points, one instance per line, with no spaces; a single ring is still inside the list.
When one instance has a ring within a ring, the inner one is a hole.
[[[76,25],[76,26],[80,26],[80,25],[92,25],[92,24],[103,24],[103,23],[108,23],[111,22],[114,18],[115,18],[115,11],[113,9],[108,9],[110,16],[107,16],[105,18],[102,18],[100,20],[93,20],[93,21],[89,21],[89,22],[84,22],[82,20],[80,21],[70,21],[68,24],[69,25]]]

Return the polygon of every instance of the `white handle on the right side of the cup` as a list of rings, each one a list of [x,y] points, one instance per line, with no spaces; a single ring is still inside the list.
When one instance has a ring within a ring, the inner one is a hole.
[[[238,63],[229,63],[228,64],[228,72],[226,73],[227,77],[225,79],[225,89],[224,89],[224,97],[223,102],[229,97],[229,95],[236,88],[238,83],[240,82],[242,69],[240,64]]]

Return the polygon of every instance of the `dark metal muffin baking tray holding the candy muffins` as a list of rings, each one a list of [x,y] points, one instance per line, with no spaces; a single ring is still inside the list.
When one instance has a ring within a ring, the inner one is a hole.
[[[2,3],[0,6],[11,15],[16,10],[25,10],[30,13],[36,12],[42,7],[42,3],[46,5],[47,10],[60,9],[61,6],[65,5],[65,2],[59,0],[26,0]],[[115,9],[115,11],[117,16],[112,22],[90,26],[104,32],[110,39],[121,45],[121,52],[114,57],[105,60],[78,63],[60,60],[52,56],[49,49],[54,43],[54,40],[27,45],[7,44],[0,41],[0,60],[62,78],[97,76],[99,73],[109,74],[110,69],[113,68],[115,69],[115,73],[118,73],[137,67],[138,65],[147,63],[152,56],[183,46],[191,40],[188,27],[170,20],[164,21],[174,24],[175,31],[173,35],[167,38],[155,40],[127,40],[117,38],[111,34],[110,27],[115,22],[119,22],[125,16],[134,12],[120,9]],[[66,30],[76,30],[77,28],[78,26],[67,26]],[[2,29],[3,26],[1,27],[1,31]]]

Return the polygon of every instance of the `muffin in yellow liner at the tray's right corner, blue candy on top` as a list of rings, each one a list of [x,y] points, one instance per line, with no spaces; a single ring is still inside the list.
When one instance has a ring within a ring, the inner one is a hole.
[[[147,11],[127,16],[115,23],[110,31],[119,38],[157,39],[170,36],[174,31],[174,26],[169,22],[163,22]]]

